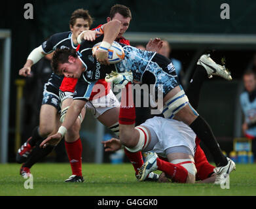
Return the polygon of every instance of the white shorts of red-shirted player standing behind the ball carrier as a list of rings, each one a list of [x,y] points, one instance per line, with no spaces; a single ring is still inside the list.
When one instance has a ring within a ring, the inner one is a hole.
[[[107,110],[115,107],[120,107],[120,103],[111,89],[104,97],[87,101],[85,105],[86,110],[89,110],[94,114],[94,118],[98,118]]]

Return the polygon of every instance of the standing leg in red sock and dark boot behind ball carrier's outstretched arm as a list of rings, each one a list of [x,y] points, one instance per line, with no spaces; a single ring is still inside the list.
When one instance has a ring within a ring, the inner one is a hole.
[[[69,97],[65,97],[65,99],[62,100],[61,121],[64,121],[65,113],[73,102],[73,99],[70,96],[72,96],[72,93]],[[69,176],[65,182],[84,182],[84,178],[82,177],[82,142],[79,135],[84,114],[85,109],[83,108],[79,118],[75,121],[75,124],[68,129],[65,134],[65,150],[67,151],[72,170],[72,175]]]

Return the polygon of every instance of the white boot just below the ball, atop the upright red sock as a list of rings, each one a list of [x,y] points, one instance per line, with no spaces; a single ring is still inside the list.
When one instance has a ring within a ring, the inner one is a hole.
[[[132,82],[134,76],[132,71],[129,72],[115,72],[112,71],[109,74],[106,74],[105,81],[106,82],[113,82],[117,88],[122,89],[128,84],[128,82]]]

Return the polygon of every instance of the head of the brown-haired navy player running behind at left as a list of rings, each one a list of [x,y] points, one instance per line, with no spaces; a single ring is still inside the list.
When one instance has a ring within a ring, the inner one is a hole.
[[[92,21],[92,17],[90,16],[88,10],[79,8],[71,14],[71,18],[69,20],[69,27],[73,35],[75,36],[75,39],[77,39],[82,31],[90,29]]]

